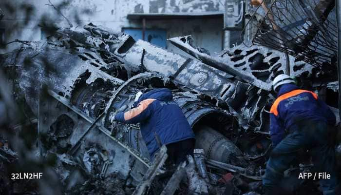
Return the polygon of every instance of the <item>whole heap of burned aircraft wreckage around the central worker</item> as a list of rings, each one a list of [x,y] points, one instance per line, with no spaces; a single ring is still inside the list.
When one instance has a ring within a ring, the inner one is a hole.
[[[320,90],[321,82],[308,80],[335,79],[262,46],[237,46],[211,56],[193,46],[190,36],[169,41],[192,58],[91,23],[59,29],[47,40],[24,42],[1,56],[1,68],[16,75],[15,96],[38,118],[33,120],[35,152],[55,159],[64,193],[261,194],[271,147],[271,80],[290,71]],[[168,176],[165,147],[151,161],[138,125],[110,121],[132,107],[138,91],[160,87],[172,90],[196,135],[194,159]],[[1,149],[1,156],[18,160],[10,149]]]

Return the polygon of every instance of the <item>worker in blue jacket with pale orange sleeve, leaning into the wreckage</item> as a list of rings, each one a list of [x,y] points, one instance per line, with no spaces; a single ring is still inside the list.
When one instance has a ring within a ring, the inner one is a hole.
[[[140,123],[140,130],[151,158],[166,144],[168,163],[178,165],[193,155],[194,133],[171,91],[153,89],[145,94],[138,92],[134,108],[117,113],[113,120],[124,123]],[[160,142],[160,143],[159,143]]]

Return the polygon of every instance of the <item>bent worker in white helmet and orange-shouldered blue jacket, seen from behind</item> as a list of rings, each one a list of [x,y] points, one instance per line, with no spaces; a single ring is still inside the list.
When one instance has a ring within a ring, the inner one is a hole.
[[[334,113],[315,93],[299,89],[295,80],[287,75],[274,78],[273,89],[277,92],[277,99],[270,110],[273,150],[263,177],[266,193],[273,194],[274,187],[280,184],[297,152],[304,149],[311,153],[313,171],[331,176],[330,179],[320,179],[323,195],[335,195],[335,146],[331,141],[331,130],[328,130],[328,124],[335,126]]]

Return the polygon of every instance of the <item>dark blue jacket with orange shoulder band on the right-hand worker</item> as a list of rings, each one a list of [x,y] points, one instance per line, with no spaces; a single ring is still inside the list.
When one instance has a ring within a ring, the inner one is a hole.
[[[295,131],[296,125],[293,124],[303,120],[324,121],[329,125],[336,123],[334,113],[315,93],[301,90],[294,84],[284,84],[270,110],[270,136],[273,146],[285,137],[285,129]]]

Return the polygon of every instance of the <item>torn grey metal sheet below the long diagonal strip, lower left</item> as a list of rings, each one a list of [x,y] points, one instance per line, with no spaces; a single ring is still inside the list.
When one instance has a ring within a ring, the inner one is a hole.
[[[127,179],[131,166],[131,163],[127,163],[131,161],[130,155],[125,150],[122,150],[117,142],[112,141],[110,137],[99,131],[98,128],[95,128],[84,137],[82,144],[73,156],[66,155],[68,149],[71,148],[75,140],[82,134],[83,129],[88,128],[91,123],[85,118],[81,119],[79,113],[77,114],[53,97],[46,97],[44,101],[40,102],[40,105],[39,129],[42,143],[42,153],[40,155],[59,156],[56,169],[57,173],[62,176],[64,185],[72,189],[76,185],[83,183],[84,179],[88,178],[89,175],[93,173],[99,174],[106,160],[114,161],[113,164],[107,167],[106,176],[119,173],[122,178]],[[54,110],[54,112],[51,112],[51,110]],[[61,126],[58,123],[65,122],[65,119],[60,120],[62,119],[61,117],[67,118],[73,125]],[[65,129],[65,127],[69,127],[72,133],[63,134],[63,139],[57,138],[56,144],[53,144],[53,142],[49,141],[49,139],[54,137],[51,135],[49,127],[54,124],[57,124],[57,132]],[[95,149],[95,145],[98,145],[97,149]],[[101,149],[98,150],[98,148]],[[92,156],[92,160],[90,160],[90,156],[87,155],[89,152],[98,156],[98,158],[93,158],[94,156]],[[82,162],[77,161],[77,158],[82,159]],[[68,166],[65,166],[65,163]],[[75,174],[78,176],[71,179]]]

